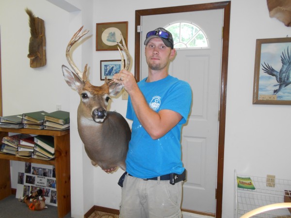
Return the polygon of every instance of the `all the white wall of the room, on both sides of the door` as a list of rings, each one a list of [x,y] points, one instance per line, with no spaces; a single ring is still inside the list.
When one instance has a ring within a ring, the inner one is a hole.
[[[93,3],[72,0],[81,11],[69,14],[45,0],[0,2],[3,114],[39,109],[53,111],[60,103],[62,109],[71,112],[72,217],[81,218],[92,205],[118,209],[121,190],[117,181],[123,171],[107,174],[93,167],[84,153],[76,130],[79,97],[68,89],[60,70],[62,64],[67,64],[65,47],[69,38],[83,24],[90,30],[92,39],[74,51],[74,60],[81,69],[88,62],[92,84],[101,85],[100,60],[119,59],[119,53],[95,51],[96,23],[129,21],[128,47],[134,62],[135,10],[213,1],[218,0],[94,0]],[[47,66],[39,69],[31,69],[26,58],[29,29],[24,8],[27,6],[44,19],[46,25],[48,61]],[[231,1],[223,218],[233,217],[234,169],[240,174],[263,177],[274,174],[276,178],[291,179],[286,157],[291,154],[290,106],[252,104],[256,39],[285,37],[290,35],[290,30],[269,17],[266,0]],[[12,87],[12,82],[17,85]],[[23,85],[32,82],[35,87]],[[49,88],[52,82],[56,85]],[[126,104],[119,96],[112,99],[110,109],[125,116]]]

